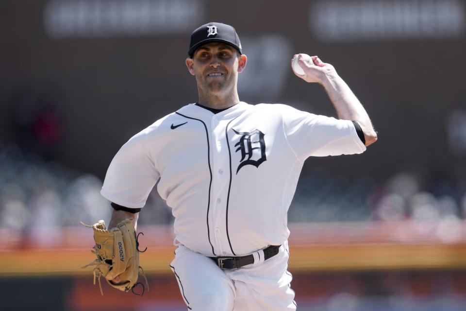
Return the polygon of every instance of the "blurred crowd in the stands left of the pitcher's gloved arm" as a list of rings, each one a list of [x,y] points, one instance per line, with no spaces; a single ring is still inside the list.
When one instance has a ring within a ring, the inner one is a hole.
[[[28,231],[108,219],[101,181],[16,146],[0,147],[0,228]]]

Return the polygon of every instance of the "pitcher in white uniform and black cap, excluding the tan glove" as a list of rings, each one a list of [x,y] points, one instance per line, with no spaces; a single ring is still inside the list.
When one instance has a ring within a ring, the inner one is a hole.
[[[332,65],[306,54],[294,59],[298,77],[324,86],[338,119],[241,102],[247,56],[239,36],[230,25],[200,26],[186,58],[198,101],[134,135],[110,163],[101,190],[114,207],[110,228],[127,219],[135,225],[158,181],[175,217],[170,267],[189,310],[296,310],[287,210],[304,160],[360,154],[377,140]]]

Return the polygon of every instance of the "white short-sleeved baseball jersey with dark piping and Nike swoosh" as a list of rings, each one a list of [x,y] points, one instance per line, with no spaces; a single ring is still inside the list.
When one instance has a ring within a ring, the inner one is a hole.
[[[240,102],[217,114],[188,104],[121,147],[101,193],[144,207],[160,178],[179,242],[207,256],[240,256],[287,240],[307,157],[365,150],[351,121],[283,104]]]

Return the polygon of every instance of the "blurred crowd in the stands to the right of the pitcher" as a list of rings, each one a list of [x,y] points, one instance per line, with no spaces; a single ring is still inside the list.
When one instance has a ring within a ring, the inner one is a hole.
[[[323,168],[302,174],[289,222],[460,221],[466,215],[466,178],[460,181],[396,173],[377,184],[348,180]]]

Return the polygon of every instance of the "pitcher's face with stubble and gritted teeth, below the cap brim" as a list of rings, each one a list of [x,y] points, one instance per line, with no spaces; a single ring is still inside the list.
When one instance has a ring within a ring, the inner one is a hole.
[[[238,72],[246,64],[246,56],[239,55],[232,46],[212,42],[197,49],[193,58],[186,59],[189,72],[196,76],[198,88],[218,93],[236,86]]]

